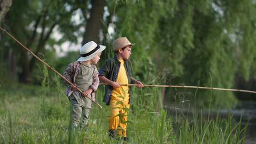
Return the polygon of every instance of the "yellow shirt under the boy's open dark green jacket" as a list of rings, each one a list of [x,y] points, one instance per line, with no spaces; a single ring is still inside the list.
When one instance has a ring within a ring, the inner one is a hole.
[[[124,60],[120,61],[120,68],[118,72],[118,77],[116,82],[121,84],[128,84],[128,78],[124,67]],[[117,99],[120,101],[128,101],[129,100],[129,87],[128,86],[120,86],[117,89],[112,91],[112,99]]]

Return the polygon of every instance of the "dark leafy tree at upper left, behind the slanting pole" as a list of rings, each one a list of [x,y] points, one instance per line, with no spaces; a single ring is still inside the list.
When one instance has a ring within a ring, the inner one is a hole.
[[[7,14],[3,27],[31,48],[36,55],[44,54],[46,46],[52,49],[53,45],[57,43],[55,38],[51,38],[55,28],[64,34],[68,33],[68,37],[75,37],[72,27],[76,26],[71,21],[75,10],[77,9],[63,0],[17,1]],[[62,27],[58,28],[57,26],[60,25]],[[65,38],[67,37],[63,37],[59,43],[63,42]],[[6,43],[3,47],[11,47],[11,49],[5,50],[5,53],[15,55],[17,59],[20,68],[18,71],[19,81],[29,83],[37,60],[9,38],[5,38],[4,41]]]

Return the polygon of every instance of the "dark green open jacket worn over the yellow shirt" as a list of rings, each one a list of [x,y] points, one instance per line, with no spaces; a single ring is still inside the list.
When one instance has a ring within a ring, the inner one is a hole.
[[[132,63],[131,63],[131,61],[125,60],[124,67],[125,67],[126,74],[128,77],[128,83],[130,84],[132,82],[131,81],[131,78],[132,78]],[[103,66],[101,67],[101,69],[99,71],[99,76],[105,76],[110,81],[116,81],[117,77],[118,77],[119,68],[120,68],[120,62],[119,62],[117,56],[115,55],[114,58],[110,58],[110,59],[106,60],[106,62],[103,64]],[[105,86],[105,95],[104,95],[103,101],[106,102],[107,105],[110,105],[110,97],[112,94],[112,90],[113,90],[113,88],[110,85]],[[129,97],[130,97],[129,104],[132,105],[133,104],[132,91],[130,88],[129,88]]]

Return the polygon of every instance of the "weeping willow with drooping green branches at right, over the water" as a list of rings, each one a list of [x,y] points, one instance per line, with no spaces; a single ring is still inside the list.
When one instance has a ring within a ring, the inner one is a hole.
[[[115,30],[117,37],[137,43],[137,72],[143,72],[141,62],[151,55],[158,73],[164,68],[172,72],[168,84],[200,81],[201,86],[233,88],[236,73],[256,77],[255,10],[254,0],[119,1]],[[202,105],[235,101],[231,92],[214,91],[212,99],[208,95],[211,91],[198,93]]]

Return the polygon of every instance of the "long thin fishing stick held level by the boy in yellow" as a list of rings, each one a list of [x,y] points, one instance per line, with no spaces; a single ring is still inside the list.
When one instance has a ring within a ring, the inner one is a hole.
[[[100,83],[100,85],[108,85],[108,84]],[[137,86],[137,84],[120,84],[120,85],[121,86]],[[149,85],[149,84],[144,84],[144,87],[193,88],[193,89],[225,90],[225,91],[240,91],[240,92],[256,93],[256,91],[251,91],[251,90],[223,89],[223,88],[185,86],[185,85],[183,86],[183,85]]]

